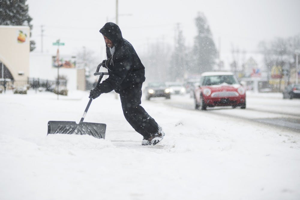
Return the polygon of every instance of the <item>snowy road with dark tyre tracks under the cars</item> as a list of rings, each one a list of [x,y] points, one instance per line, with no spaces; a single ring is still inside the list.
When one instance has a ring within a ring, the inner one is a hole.
[[[248,92],[246,101],[246,109],[232,109],[227,106],[208,108],[206,111],[199,112],[229,117],[232,120],[242,118],[300,132],[300,99],[283,99],[280,93],[255,94]],[[171,100],[152,98],[151,102],[189,110],[194,109],[194,100],[189,95],[173,95]]]

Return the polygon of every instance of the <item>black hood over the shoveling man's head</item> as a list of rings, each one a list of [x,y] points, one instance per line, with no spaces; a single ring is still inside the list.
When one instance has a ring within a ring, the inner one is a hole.
[[[123,39],[119,26],[113,22],[107,22],[99,32],[110,39],[114,45],[118,44]]]

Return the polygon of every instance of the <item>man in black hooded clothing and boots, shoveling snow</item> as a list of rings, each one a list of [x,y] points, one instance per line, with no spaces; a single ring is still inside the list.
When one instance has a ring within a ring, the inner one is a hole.
[[[164,137],[162,128],[140,105],[145,67],[131,43],[122,37],[118,25],[106,23],[101,29],[106,43],[107,60],[102,63],[109,77],[91,90],[89,98],[115,90],[129,124],[143,136],[142,145],[156,145]]]

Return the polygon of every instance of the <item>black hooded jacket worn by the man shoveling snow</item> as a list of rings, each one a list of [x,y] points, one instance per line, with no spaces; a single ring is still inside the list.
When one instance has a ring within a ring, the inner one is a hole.
[[[131,43],[122,37],[119,26],[108,22],[100,29],[100,33],[110,39],[115,46],[113,55],[110,53],[110,48],[106,46],[109,77],[97,86],[100,92],[108,93],[115,90],[120,93],[131,85],[143,83],[145,67]]]

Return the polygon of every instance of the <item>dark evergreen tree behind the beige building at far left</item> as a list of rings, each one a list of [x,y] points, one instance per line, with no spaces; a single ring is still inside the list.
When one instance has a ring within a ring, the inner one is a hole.
[[[0,25],[29,26],[32,18],[28,14],[26,0],[0,0]],[[31,31],[30,31],[31,36]],[[35,41],[30,41],[30,51],[35,49]]]

